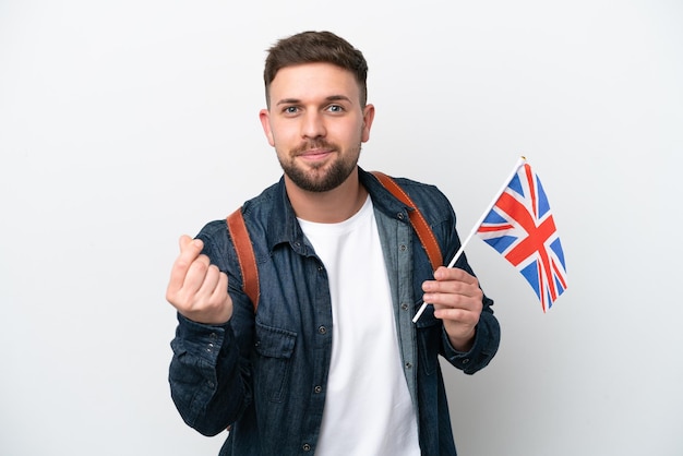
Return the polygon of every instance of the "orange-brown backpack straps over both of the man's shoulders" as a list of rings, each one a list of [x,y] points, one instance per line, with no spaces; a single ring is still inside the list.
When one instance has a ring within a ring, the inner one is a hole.
[[[372,171],[372,175],[378,178],[386,190],[388,190],[396,199],[411,208],[408,212],[410,224],[418,236],[418,239],[422,243],[422,247],[427,251],[427,256],[432,265],[432,271],[443,265],[443,256],[441,249],[436,242],[436,238],[432,232],[429,224],[422,216],[422,213],[418,206],[412,202],[410,196],[392,179],[380,171]],[[259,286],[259,268],[256,267],[256,257],[254,255],[254,248],[244,225],[244,218],[242,217],[242,208],[238,207],[227,219],[228,231],[232,238],[232,244],[237,252],[237,260],[240,265],[240,273],[242,274],[242,289],[244,293],[251,299],[254,307],[254,312],[259,307],[259,297],[261,296]]]

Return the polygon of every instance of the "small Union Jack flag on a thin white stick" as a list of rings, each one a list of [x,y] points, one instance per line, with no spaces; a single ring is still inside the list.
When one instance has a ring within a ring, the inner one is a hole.
[[[483,218],[477,235],[522,273],[543,312],[567,287],[555,220],[538,176],[523,163]]]

